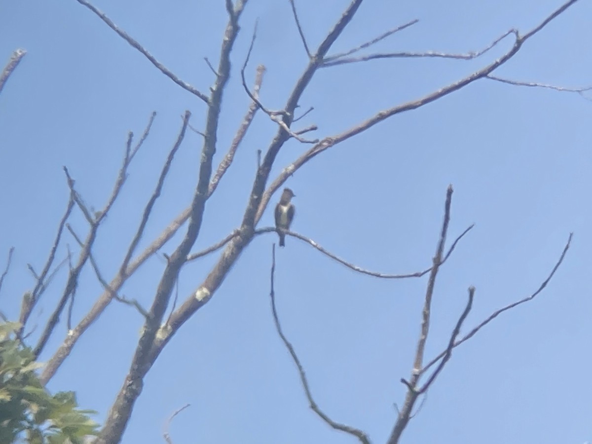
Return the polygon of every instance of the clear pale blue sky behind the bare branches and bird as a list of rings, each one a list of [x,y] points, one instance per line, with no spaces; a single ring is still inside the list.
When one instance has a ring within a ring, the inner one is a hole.
[[[99,0],[94,3],[180,78],[201,91],[213,84],[203,57],[217,64],[227,15],[223,1]],[[551,0],[474,2],[368,1],[331,53],[357,46],[415,18],[413,27],[381,41],[375,52],[468,52],[510,28],[525,33],[558,8]],[[315,48],[348,5],[345,0],[297,2],[305,36]],[[592,83],[592,4],[581,0],[524,44],[496,71],[518,81],[585,86]],[[287,1],[251,0],[232,56],[215,163],[249,105],[239,67],[259,19],[247,79],[267,67],[263,103],[281,108],[307,62]],[[89,205],[101,208],[120,168],[127,131],[141,134],[157,117],[130,168],[130,178],[99,229],[95,257],[113,276],[152,193],[185,110],[202,128],[203,102],[179,88],[88,9],[66,2],[1,2],[0,56],[17,47],[27,56],[0,97],[0,252],[15,247],[0,307],[16,317],[20,296],[33,287],[27,263],[41,269],[68,197],[62,166]],[[353,124],[469,75],[511,47],[511,37],[480,59],[390,59],[317,72],[300,101],[313,106],[295,128],[317,124],[315,137]],[[3,62],[4,63],[4,62]],[[532,293],[574,234],[555,278],[538,298],[497,318],[455,350],[403,435],[407,443],[577,443],[592,440],[592,301],[588,276],[592,212],[588,190],[592,102],[577,94],[478,81],[461,91],[399,114],[333,147],[289,179],[297,197],[293,229],[359,266],[388,273],[430,265],[453,184],[449,242],[469,224],[439,274],[426,357],[445,348],[477,288],[463,332],[496,308]],[[233,166],[206,205],[197,251],[239,226],[256,169],[275,124],[259,114]],[[292,140],[276,159],[272,178],[307,146]],[[173,163],[146,246],[191,199],[201,138],[191,131]],[[272,203],[278,197],[274,197]],[[75,211],[73,228],[86,224]],[[268,209],[259,226],[273,223]],[[342,443],[307,407],[294,364],[277,336],[269,307],[274,233],[256,237],[214,298],[191,318],[146,378],[124,443],[163,442],[169,415],[175,443]],[[162,252],[175,248],[175,237]],[[66,236],[59,257],[66,255]],[[288,237],[277,254],[276,298],[282,326],[307,371],[317,403],[329,416],[384,442],[401,404],[401,377],[411,371],[426,278],[389,281],[359,275]],[[220,253],[186,266],[184,300]],[[4,258],[5,253],[1,253]],[[5,259],[2,259],[4,263]],[[149,307],[165,259],[154,257],[123,294]],[[4,266],[4,265],[2,265]],[[44,321],[63,291],[59,275],[31,319]],[[80,320],[101,287],[91,268],[82,274],[73,310]],[[49,384],[76,390],[83,407],[107,413],[126,375],[143,323],[113,303],[89,329]],[[46,361],[66,334],[52,336]]]

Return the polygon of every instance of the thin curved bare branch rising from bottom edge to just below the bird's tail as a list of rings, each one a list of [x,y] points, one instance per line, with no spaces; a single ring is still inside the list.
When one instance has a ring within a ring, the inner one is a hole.
[[[366,436],[366,434],[364,432],[362,432],[362,430],[356,429],[355,427],[346,426],[345,424],[340,424],[340,423],[334,422],[332,419],[329,418],[329,416],[327,416],[327,414],[325,414],[317,406],[317,403],[314,402],[313,395],[311,394],[311,391],[310,391],[310,387],[308,387],[308,380],[307,380],[306,375],[304,373],[304,368],[303,368],[302,364],[300,363],[300,359],[298,359],[296,352],[294,351],[294,347],[288,341],[284,332],[282,332],[282,326],[279,323],[278,311],[275,308],[274,276],[275,276],[275,243],[272,244],[271,290],[269,292],[269,296],[271,297],[271,311],[272,311],[272,314],[274,315],[275,329],[277,330],[279,337],[281,337],[282,342],[284,342],[284,345],[288,349],[288,352],[292,356],[292,361],[294,361],[294,363],[296,364],[296,366],[298,368],[298,373],[300,374],[300,381],[302,383],[302,387],[304,389],[304,393],[307,397],[308,404],[309,404],[311,410],[313,410],[314,413],[316,413],[317,416],[320,417],[320,419],[322,419],[324,422],[329,424],[329,426],[333,427],[333,429],[349,433],[350,435],[357,437],[358,440],[363,444],[370,444],[370,440],[368,439],[368,436]]]

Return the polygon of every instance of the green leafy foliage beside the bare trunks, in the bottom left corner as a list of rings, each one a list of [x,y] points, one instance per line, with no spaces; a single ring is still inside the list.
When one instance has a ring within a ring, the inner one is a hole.
[[[81,410],[73,391],[52,395],[41,385],[31,349],[15,337],[18,323],[0,323],[0,443],[83,444],[97,435],[93,410]]]

